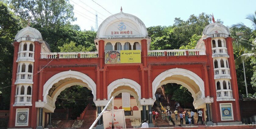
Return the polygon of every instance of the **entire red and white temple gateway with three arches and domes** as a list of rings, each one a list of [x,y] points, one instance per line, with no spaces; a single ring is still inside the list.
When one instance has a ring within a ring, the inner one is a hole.
[[[162,93],[159,88],[167,83],[186,87],[194,109],[202,109],[209,125],[242,124],[232,37],[226,26],[207,25],[195,49],[149,50],[151,38],[144,23],[121,11],[101,23],[94,42],[95,52],[52,53],[37,29],[28,26],[17,33],[9,128],[52,127],[58,95],[74,85],[91,90],[97,107],[91,119],[115,97],[114,109],[125,109],[132,126],[147,119],[153,127],[151,110],[159,107],[154,105],[155,93]],[[86,121],[86,115],[77,121]],[[99,120],[96,127],[102,124]]]

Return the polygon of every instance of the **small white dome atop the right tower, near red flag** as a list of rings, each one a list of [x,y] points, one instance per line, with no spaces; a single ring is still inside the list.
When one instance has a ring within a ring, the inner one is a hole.
[[[228,37],[230,35],[229,29],[220,23],[211,23],[203,30],[203,39],[208,37]]]

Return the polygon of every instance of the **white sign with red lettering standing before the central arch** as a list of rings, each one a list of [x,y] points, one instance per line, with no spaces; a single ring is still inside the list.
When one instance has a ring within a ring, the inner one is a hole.
[[[104,129],[112,129],[112,110],[105,110],[103,113],[103,126]],[[114,129],[125,129],[125,116],[124,110],[114,110]]]

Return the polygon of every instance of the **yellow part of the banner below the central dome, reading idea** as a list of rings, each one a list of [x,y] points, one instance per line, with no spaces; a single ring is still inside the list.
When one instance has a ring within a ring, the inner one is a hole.
[[[141,63],[141,50],[121,50],[120,63]]]

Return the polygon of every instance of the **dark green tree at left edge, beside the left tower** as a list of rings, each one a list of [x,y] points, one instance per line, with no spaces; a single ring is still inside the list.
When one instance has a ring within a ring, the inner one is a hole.
[[[0,110],[9,110],[12,82],[13,46],[20,21],[7,5],[0,2]],[[4,88],[6,87],[6,88]],[[2,89],[3,88],[3,89]]]

